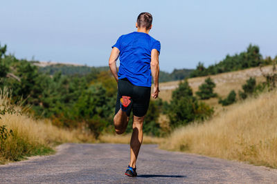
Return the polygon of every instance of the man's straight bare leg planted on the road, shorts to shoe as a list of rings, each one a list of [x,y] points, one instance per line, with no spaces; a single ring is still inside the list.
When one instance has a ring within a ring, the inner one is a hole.
[[[136,167],[136,159],[138,158],[139,149],[141,148],[141,143],[143,142],[143,120],[144,116],[134,116],[133,132],[130,142],[131,159],[129,162],[129,166],[133,168]]]

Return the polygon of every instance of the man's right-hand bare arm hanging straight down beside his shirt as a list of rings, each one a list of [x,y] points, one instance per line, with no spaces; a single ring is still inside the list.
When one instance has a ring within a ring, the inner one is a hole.
[[[159,95],[159,52],[156,49],[151,51],[151,73],[154,81],[154,92],[152,93],[152,97],[157,99]]]

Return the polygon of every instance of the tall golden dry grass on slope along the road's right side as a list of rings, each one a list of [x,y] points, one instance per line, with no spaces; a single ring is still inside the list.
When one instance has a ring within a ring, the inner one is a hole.
[[[204,123],[180,127],[161,147],[277,167],[277,92],[231,105]]]

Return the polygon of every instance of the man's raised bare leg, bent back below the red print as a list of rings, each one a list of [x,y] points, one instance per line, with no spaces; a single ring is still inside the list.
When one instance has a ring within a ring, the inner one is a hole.
[[[129,117],[121,109],[114,116],[114,128],[116,134],[123,134],[127,128]]]

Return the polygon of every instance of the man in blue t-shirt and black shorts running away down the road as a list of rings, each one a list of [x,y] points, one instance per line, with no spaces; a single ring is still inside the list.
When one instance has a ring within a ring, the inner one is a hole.
[[[148,34],[152,28],[152,15],[139,14],[136,20],[136,32],[124,34],[111,48],[109,68],[118,82],[118,95],[114,127],[116,134],[126,130],[129,115],[134,114],[133,132],[130,142],[131,157],[125,174],[136,176],[136,159],[143,141],[143,120],[150,102],[152,76],[156,99],[159,94],[159,52],[161,43]],[[120,59],[117,72],[116,60]]]

